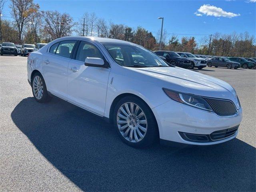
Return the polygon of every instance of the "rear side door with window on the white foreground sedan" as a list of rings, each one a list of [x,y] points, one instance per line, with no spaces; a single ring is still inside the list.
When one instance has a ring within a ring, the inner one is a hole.
[[[76,42],[76,40],[57,42],[43,56],[42,72],[47,90],[65,100],[67,99],[68,63]]]

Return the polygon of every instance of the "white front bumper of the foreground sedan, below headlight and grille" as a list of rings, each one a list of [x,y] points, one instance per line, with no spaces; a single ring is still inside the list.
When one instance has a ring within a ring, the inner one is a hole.
[[[181,134],[199,134],[210,136],[220,130],[238,126],[242,121],[242,108],[238,114],[230,117],[220,117],[212,112],[207,112],[170,100],[160,106],[152,108],[156,117],[161,140],[168,140],[184,144],[211,145],[226,142],[235,138],[238,130],[229,137],[220,140],[200,142],[184,138]]]

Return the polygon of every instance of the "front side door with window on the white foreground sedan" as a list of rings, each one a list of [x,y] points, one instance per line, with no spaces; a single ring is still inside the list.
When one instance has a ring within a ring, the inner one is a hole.
[[[86,57],[108,63],[96,44],[80,41],[68,65],[68,101],[103,116],[110,68],[85,66]]]

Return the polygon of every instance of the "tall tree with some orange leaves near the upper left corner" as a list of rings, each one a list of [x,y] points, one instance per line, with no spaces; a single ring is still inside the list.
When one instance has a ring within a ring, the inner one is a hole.
[[[11,15],[18,28],[19,43],[22,42],[22,32],[32,14],[38,12],[39,5],[34,4],[33,0],[11,0]]]

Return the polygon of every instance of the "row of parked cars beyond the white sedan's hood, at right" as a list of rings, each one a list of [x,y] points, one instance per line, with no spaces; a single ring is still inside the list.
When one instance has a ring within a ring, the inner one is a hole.
[[[208,67],[226,67],[234,68],[256,68],[256,58],[241,58],[241,57],[218,57],[218,56],[202,56],[194,55],[188,52],[174,51],[154,51],[158,56],[164,59],[169,64],[182,68],[198,68]]]

